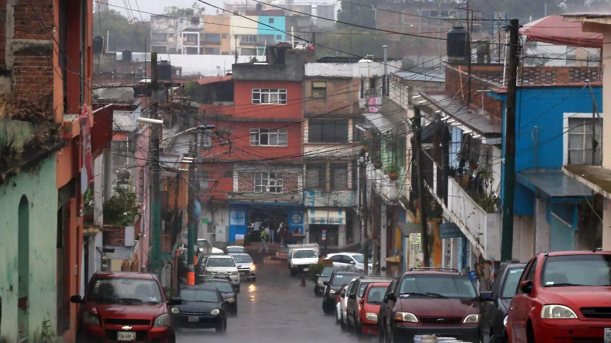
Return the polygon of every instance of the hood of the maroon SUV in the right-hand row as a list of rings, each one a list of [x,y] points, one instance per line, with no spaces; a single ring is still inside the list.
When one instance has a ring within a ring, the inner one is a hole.
[[[401,296],[401,299],[397,302],[400,303],[402,312],[411,312],[416,317],[466,317],[469,314],[478,314],[480,312],[475,300],[415,297],[406,299]]]

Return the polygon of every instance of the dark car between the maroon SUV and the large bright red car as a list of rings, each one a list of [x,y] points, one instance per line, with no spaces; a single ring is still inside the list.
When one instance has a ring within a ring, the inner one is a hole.
[[[492,299],[485,301],[481,306],[481,328],[484,334],[490,336],[491,343],[507,342],[507,332],[505,332],[507,313],[511,298],[516,295],[518,282],[525,267],[525,263],[507,265],[494,278],[492,291],[480,294],[480,297]]]

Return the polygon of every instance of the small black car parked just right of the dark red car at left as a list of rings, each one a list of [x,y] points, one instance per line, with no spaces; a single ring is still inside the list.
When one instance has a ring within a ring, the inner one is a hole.
[[[221,292],[207,285],[188,286],[180,290],[183,302],[172,307],[172,325],[176,328],[214,328],[227,331],[227,301]]]

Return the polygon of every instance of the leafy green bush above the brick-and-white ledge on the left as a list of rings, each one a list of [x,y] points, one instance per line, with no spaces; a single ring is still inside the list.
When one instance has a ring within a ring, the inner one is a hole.
[[[117,187],[112,197],[104,202],[104,224],[131,226],[139,216],[136,193]]]

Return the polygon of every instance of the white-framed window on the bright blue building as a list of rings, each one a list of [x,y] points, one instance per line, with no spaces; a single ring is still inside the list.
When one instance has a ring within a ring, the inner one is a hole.
[[[568,118],[568,164],[601,164],[602,129],[595,121],[596,161],[592,163],[592,118]]]

